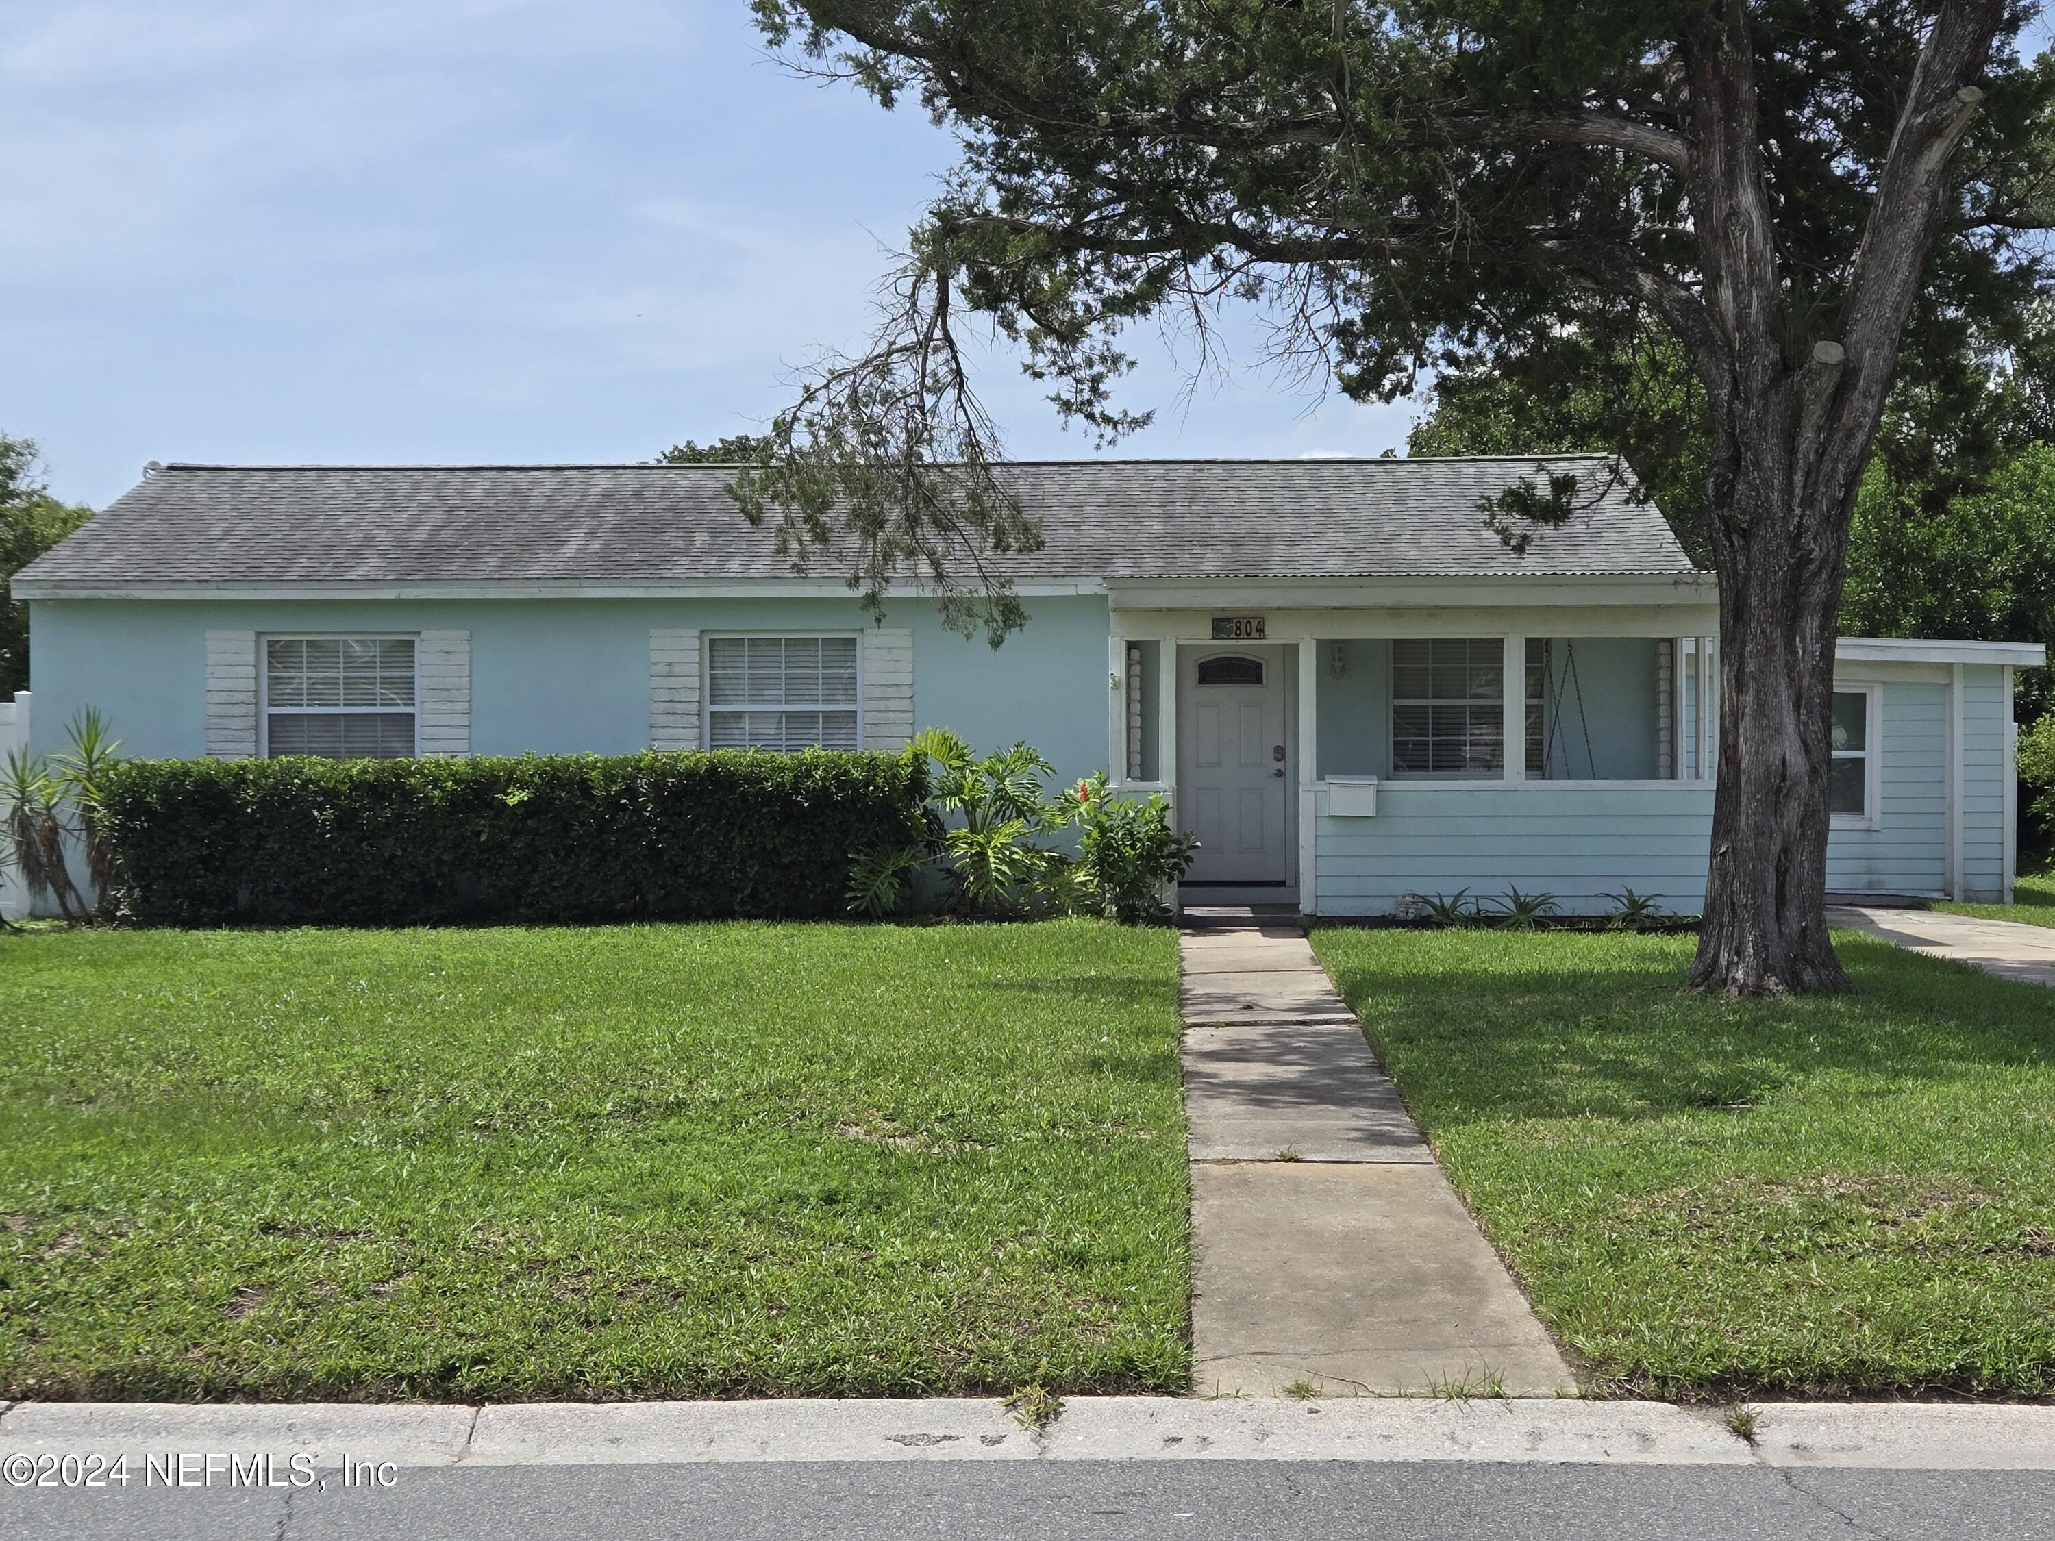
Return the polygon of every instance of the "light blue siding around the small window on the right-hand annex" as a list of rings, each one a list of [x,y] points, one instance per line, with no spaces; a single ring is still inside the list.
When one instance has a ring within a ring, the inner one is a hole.
[[[1841,684],[1864,684],[1850,670]],[[1948,686],[1882,686],[1878,828],[1827,834],[1837,894],[1940,894],[1948,888]]]

